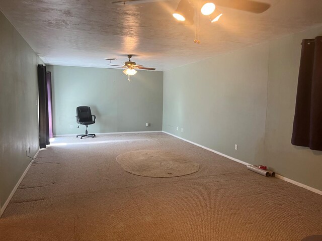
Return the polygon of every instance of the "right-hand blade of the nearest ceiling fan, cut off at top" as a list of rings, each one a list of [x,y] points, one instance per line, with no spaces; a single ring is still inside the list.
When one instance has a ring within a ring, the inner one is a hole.
[[[216,0],[215,4],[225,8],[237,9],[255,14],[261,14],[271,7],[270,4],[252,0]]]

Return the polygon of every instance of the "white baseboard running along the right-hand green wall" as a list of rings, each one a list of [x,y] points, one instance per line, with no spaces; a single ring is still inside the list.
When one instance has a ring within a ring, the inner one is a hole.
[[[184,139],[184,138],[182,138],[182,137],[178,137],[178,136],[176,136],[176,135],[174,135],[174,134],[171,134],[171,133],[168,133],[168,132],[164,132],[164,131],[163,131],[163,133],[166,133],[166,134],[171,135],[171,136],[173,136],[173,137],[179,138],[179,139],[181,139],[181,140],[183,140],[183,141],[185,141],[185,142],[189,142],[189,143],[191,143],[191,144],[193,144],[193,145],[196,145],[196,146],[198,146],[198,147],[201,147],[201,148],[203,148],[203,149],[206,149],[206,150],[208,150],[208,151],[210,151],[210,152],[216,153],[216,154],[218,154],[218,155],[220,155],[220,156],[226,157],[226,158],[228,158],[228,159],[230,159],[230,160],[233,160],[233,161],[235,161],[235,162],[238,162],[238,163],[244,164],[244,165],[246,165],[246,166],[247,166],[247,165],[251,165],[251,164],[249,164],[249,163],[247,163],[247,162],[240,161],[239,159],[236,159],[236,158],[230,157],[230,156],[228,156],[228,155],[226,155],[226,154],[223,154],[223,153],[217,152],[217,151],[212,150],[212,149],[210,149],[210,148],[208,148],[208,147],[204,147],[204,146],[202,146],[202,145],[199,145],[199,144],[197,144],[197,143],[191,142],[191,141],[189,141],[189,140],[187,140],[187,139]],[[296,186],[299,186],[299,187],[305,188],[305,189],[307,189],[307,190],[309,190],[309,191],[311,191],[311,192],[315,192],[315,193],[317,193],[317,194],[319,194],[319,195],[322,195],[322,191],[321,191],[321,190],[318,190],[318,189],[316,189],[316,188],[313,188],[313,187],[307,186],[307,185],[305,185],[305,184],[302,184],[302,183],[296,182],[296,181],[294,181],[294,180],[292,180],[292,179],[289,179],[289,178],[284,177],[284,176],[279,175],[279,174],[275,174],[275,177],[277,177],[277,178],[279,178],[279,179],[281,179],[281,180],[283,180],[283,181],[286,181],[286,182],[292,183],[292,184],[294,184],[294,185],[296,185]]]

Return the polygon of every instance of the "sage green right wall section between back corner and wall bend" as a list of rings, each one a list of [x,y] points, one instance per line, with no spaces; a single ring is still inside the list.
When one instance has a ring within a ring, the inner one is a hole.
[[[267,66],[264,44],[165,71],[163,130],[243,161],[263,161]]]

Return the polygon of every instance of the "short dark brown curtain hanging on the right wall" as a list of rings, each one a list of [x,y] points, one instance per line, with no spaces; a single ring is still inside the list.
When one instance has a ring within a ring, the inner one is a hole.
[[[291,143],[322,151],[322,36],[302,41]]]

